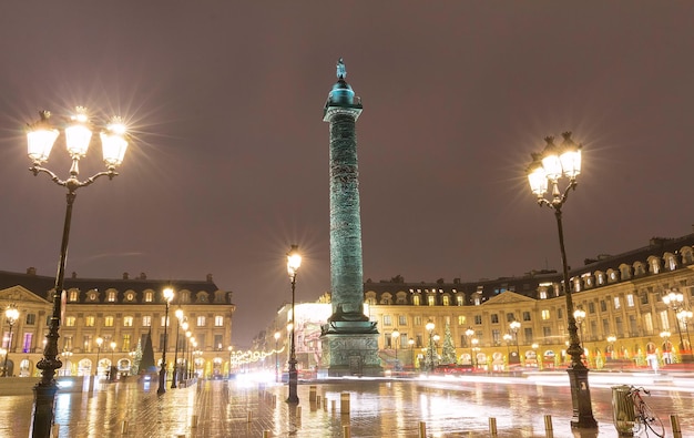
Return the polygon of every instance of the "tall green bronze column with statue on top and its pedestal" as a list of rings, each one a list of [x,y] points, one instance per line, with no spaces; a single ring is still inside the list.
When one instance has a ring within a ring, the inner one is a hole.
[[[325,104],[330,123],[330,293],[333,314],[323,327],[323,368],[328,376],[376,376],[378,358],[376,323],[364,315],[364,268],[356,121],[361,102],[345,81],[340,59],[337,82]]]

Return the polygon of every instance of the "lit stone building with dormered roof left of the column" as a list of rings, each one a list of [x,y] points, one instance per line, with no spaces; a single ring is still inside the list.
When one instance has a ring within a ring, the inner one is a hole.
[[[120,279],[79,278],[73,274],[71,278],[65,278],[64,285],[58,339],[63,366],[58,375],[91,375],[98,358],[100,374],[114,364],[121,375],[127,375],[132,371],[137,345],[144,348],[147,335],[159,365],[166,319],[162,292],[166,287],[173,288],[175,294],[170,304],[166,329],[170,371],[177,358],[180,365],[190,359],[191,368],[201,376],[228,373],[235,306],[232,292],[220,291],[212,275],[198,282],[149,279],[145,274],[134,278],[123,274]],[[8,370],[12,375],[38,374],[35,365],[42,357],[48,319],[53,307],[53,288],[54,278],[37,275],[33,268],[27,269],[25,274],[0,272],[2,347],[9,349]],[[4,308],[9,305],[20,312],[12,327],[11,345],[4,317]],[[175,316],[177,309],[183,312],[191,338],[195,338],[197,347],[192,347],[183,333]],[[101,347],[98,338],[103,339]],[[111,348],[112,343],[115,343],[114,348]],[[183,356],[184,348],[186,357]]]

